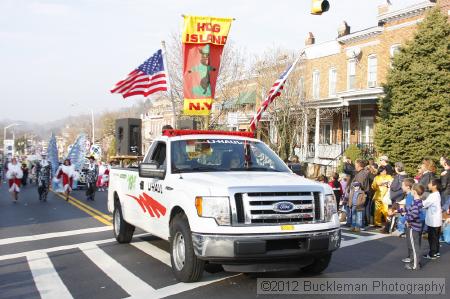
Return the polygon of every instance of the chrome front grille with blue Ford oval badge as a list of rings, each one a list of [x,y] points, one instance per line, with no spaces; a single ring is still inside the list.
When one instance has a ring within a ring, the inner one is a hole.
[[[320,192],[236,193],[238,225],[300,224],[321,220]],[[277,209],[286,204],[291,207]]]

